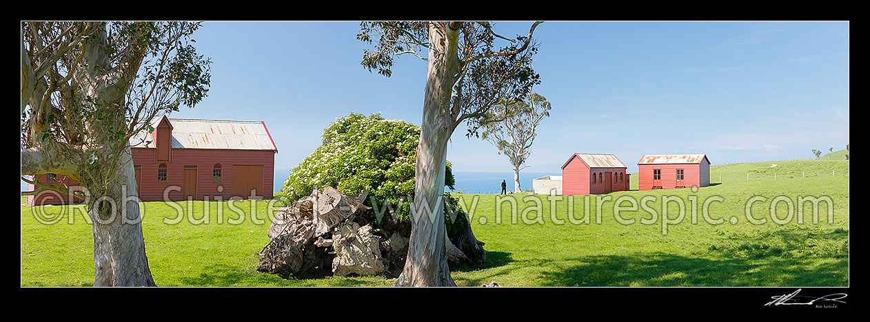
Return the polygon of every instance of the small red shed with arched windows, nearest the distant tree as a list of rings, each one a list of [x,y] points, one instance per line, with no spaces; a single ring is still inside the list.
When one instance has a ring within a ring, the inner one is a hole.
[[[626,165],[613,154],[573,154],[562,166],[562,194],[628,190]]]

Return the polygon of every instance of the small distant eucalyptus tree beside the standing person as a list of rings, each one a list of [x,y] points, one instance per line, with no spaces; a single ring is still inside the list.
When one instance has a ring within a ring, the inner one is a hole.
[[[489,141],[504,154],[513,167],[513,191],[519,193],[519,171],[528,168],[525,161],[532,154],[535,131],[541,120],[550,115],[550,102],[543,95],[532,93],[527,101],[505,101],[496,104],[485,115],[480,138]]]

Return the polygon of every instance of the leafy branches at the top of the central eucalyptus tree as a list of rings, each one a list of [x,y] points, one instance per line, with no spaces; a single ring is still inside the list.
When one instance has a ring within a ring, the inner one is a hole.
[[[398,56],[410,54],[428,61],[420,54],[450,50],[444,41],[429,43],[430,32],[443,36],[448,30],[457,30],[459,42],[455,54],[439,55],[434,58],[439,62],[429,63],[457,64],[458,70],[451,72],[455,74],[445,75],[441,85],[452,88],[450,109],[459,111],[453,121],[465,120],[468,126],[465,135],[479,136],[478,128],[483,125],[479,116],[492,108],[494,102],[523,100],[532,86],[540,83],[539,74],[532,69],[538,44],[531,39],[539,23],[543,22],[532,24],[528,36],[509,39],[492,31],[495,23],[489,22],[362,22],[357,39],[372,47],[363,50],[360,63],[370,72],[377,70],[389,77]],[[499,47],[495,43],[497,37],[510,43]]]

